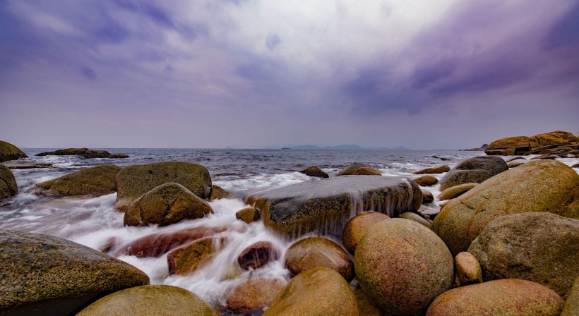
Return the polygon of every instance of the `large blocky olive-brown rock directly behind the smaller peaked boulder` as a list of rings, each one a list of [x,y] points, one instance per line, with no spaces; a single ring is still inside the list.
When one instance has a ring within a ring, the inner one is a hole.
[[[116,209],[126,211],[129,205],[163,183],[175,182],[202,199],[210,197],[211,177],[201,164],[191,162],[155,162],[126,166],[117,174]]]

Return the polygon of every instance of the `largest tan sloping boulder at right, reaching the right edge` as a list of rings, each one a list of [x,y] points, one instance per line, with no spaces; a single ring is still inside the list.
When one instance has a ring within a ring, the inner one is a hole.
[[[432,223],[454,255],[497,217],[523,212],[551,212],[579,218],[579,175],[566,164],[529,162],[505,171],[450,200]]]

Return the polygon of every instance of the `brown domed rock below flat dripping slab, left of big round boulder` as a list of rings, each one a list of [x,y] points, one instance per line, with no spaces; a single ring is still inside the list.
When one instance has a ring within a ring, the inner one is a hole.
[[[285,253],[285,267],[294,275],[326,267],[338,272],[348,282],[354,279],[354,264],[350,256],[340,245],[323,237],[308,237],[295,242]]]

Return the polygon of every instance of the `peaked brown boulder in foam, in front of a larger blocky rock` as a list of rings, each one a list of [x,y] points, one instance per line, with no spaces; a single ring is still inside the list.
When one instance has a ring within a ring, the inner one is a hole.
[[[125,226],[167,226],[184,219],[199,219],[213,213],[208,202],[201,200],[179,183],[169,182],[143,194],[124,216]]]

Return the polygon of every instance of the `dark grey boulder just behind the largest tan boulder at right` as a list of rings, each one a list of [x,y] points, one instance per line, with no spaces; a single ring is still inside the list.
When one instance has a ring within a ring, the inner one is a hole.
[[[501,157],[482,156],[465,159],[441,178],[441,191],[463,183],[482,181],[507,171],[508,166]]]

